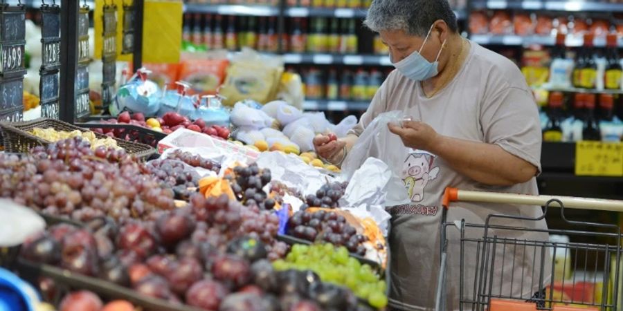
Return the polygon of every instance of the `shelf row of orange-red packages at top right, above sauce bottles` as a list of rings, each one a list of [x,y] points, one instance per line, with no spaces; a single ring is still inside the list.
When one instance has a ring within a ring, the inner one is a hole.
[[[605,46],[605,35],[616,30],[623,36],[623,23],[604,15],[578,12],[573,15],[552,12],[511,12],[476,10],[469,16],[470,39],[478,44],[501,46],[552,46],[555,35],[566,33],[567,46],[581,46],[582,36],[595,35],[595,46]],[[618,39],[623,46],[623,40]]]

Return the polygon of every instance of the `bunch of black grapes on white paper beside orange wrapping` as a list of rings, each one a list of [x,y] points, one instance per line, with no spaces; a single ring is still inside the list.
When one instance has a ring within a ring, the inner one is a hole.
[[[260,169],[258,164],[253,163],[249,167],[234,167],[233,173],[231,189],[240,202],[248,207],[258,206],[260,209],[275,207],[275,200],[269,198],[263,190],[271,182],[269,169]]]

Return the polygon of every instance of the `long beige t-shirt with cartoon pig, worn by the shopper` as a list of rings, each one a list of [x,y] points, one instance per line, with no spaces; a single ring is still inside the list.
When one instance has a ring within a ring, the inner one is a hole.
[[[456,77],[431,98],[424,95],[419,82],[414,82],[394,70],[351,133],[361,135],[379,113],[396,110],[404,111],[414,120],[431,125],[442,135],[498,144],[505,151],[527,160],[541,171],[541,126],[530,88],[515,64],[478,44],[470,42],[469,56]],[[512,187],[482,185],[453,171],[443,158],[426,151],[411,149],[410,154],[404,155],[404,158],[402,178],[412,203],[388,208],[392,214],[389,238],[392,252],[390,304],[403,310],[431,310],[435,306],[435,287],[440,269],[440,202],[444,189],[456,187],[519,194],[537,194],[538,190],[534,178]],[[489,214],[536,218],[541,216],[542,211],[540,207],[459,202],[449,210],[448,220],[465,219],[467,223],[482,224]],[[547,227],[544,220],[500,220],[495,223],[540,229]],[[457,310],[460,235],[455,227],[449,227],[447,232],[450,243],[445,281],[446,310]],[[467,235],[482,238],[483,233],[482,229],[470,229]],[[537,241],[548,239],[547,234],[534,232],[489,231],[489,236],[494,235]],[[463,299],[472,299],[474,289],[478,288],[474,286],[474,275],[477,271],[476,243],[466,243],[465,249]],[[491,294],[512,293],[512,296],[530,299],[534,292],[545,287],[539,284],[541,253],[538,250],[535,252],[534,247],[497,245],[496,254],[498,256],[495,262],[487,263],[488,267],[494,267]],[[536,258],[534,264],[533,258]],[[482,261],[479,266],[481,264]],[[533,265],[537,268],[533,269]],[[549,270],[545,269],[543,282],[548,277]],[[489,286],[487,282],[480,292],[488,293]],[[471,309],[471,305],[467,307]]]

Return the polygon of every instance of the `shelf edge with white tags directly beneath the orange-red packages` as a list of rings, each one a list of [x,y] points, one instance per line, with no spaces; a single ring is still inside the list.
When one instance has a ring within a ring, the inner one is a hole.
[[[481,45],[497,45],[497,46],[529,46],[531,44],[539,44],[542,46],[554,46],[556,38],[552,36],[518,36],[518,35],[471,35],[471,41]],[[583,39],[578,36],[568,35],[565,40],[566,46],[578,47],[582,46]],[[606,46],[604,37],[595,38],[596,47]],[[623,39],[619,39],[619,47],[623,47]]]

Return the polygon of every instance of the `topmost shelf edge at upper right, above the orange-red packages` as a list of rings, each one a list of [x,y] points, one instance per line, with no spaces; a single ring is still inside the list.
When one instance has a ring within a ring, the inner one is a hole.
[[[592,1],[505,1],[505,0],[489,0],[489,1],[472,1],[472,6],[476,10],[550,10],[563,12],[623,12],[623,3],[601,3]]]

